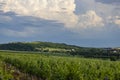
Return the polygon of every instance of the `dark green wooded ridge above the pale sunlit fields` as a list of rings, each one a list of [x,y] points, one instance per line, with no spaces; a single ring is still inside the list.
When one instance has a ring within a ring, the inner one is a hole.
[[[2,50],[36,51],[37,48],[79,49],[79,46],[52,42],[12,42],[0,44]]]

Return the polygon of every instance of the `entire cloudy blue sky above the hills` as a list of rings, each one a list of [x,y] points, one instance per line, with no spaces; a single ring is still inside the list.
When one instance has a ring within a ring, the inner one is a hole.
[[[120,0],[0,0],[0,43],[120,47]]]

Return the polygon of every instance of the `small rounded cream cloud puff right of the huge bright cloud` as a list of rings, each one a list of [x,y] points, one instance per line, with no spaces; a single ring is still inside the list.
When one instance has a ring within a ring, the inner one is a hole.
[[[78,24],[83,27],[97,27],[104,25],[102,18],[93,10],[87,11],[86,14],[80,15]]]

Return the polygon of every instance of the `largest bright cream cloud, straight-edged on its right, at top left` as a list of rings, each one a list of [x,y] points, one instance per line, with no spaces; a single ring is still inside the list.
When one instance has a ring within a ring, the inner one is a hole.
[[[0,0],[0,3],[4,3],[4,12],[57,20],[65,25],[73,25],[77,19],[75,0]]]

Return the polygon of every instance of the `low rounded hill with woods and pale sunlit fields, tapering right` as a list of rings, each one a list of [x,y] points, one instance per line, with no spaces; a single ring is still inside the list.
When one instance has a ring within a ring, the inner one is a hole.
[[[65,43],[52,42],[13,42],[7,44],[0,44],[0,50],[15,50],[15,51],[41,51],[41,52],[67,52],[76,50],[81,47],[74,45],[67,45]]]

